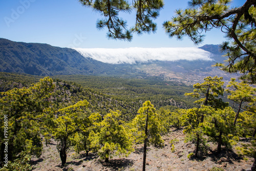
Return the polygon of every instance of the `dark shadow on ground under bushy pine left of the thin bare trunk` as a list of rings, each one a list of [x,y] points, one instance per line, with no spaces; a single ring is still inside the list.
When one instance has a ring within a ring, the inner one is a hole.
[[[125,169],[126,167],[134,164],[130,159],[111,159],[109,162],[101,162],[102,166],[108,167],[110,170],[118,170],[119,168]]]

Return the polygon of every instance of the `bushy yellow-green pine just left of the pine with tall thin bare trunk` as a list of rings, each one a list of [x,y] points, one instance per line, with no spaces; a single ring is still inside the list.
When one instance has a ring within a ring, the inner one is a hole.
[[[132,141],[119,120],[121,114],[118,112],[106,114],[98,124],[99,132],[90,133],[91,146],[98,146],[98,155],[105,162],[109,162],[113,155],[128,156],[133,151]]]

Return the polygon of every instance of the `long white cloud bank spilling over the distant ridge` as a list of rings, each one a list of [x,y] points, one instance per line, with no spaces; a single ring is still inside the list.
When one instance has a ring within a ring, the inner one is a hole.
[[[211,53],[199,48],[74,48],[84,57],[91,57],[104,63],[135,63],[152,60],[212,60]]]

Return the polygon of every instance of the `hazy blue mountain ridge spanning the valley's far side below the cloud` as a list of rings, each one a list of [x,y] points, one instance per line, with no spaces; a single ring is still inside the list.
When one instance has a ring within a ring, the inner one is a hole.
[[[223,62],[219,45],[199,47],[211,53],[210,60],[147,61],[110,64],[84,57],[70,48],[54,47],[48,44],[16,42],[0,38],[0,72],[25,73],[31,75],[104,75],[144,78],[159,76],[163,79],[181,80],[191,75],[205,77],[213,70],[216,62]],[[121,58],[121,57],[120,57]],[[212,74],[212,73],[211,73]],[[229,79],[229,78],[227,78]],[[191,82],[193,83],[193,82]]]

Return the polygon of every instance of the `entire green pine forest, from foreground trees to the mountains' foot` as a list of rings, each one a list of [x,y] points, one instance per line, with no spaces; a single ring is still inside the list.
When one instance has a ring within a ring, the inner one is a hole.
[[[118,160],[119,168],[124,162],[123,170],[140,169],[133,162],[125,165],[125,159],[110,159],[143,153],[144,165],[148,145],[152,145],[152,152],[166,148],[168,151],[161,152],[162,155],[174,153],[180,158],[185,154],[184,145],[183,152],[177,146],[181,140],[191,147],[187,162],[212,155],[216,162],[231,164],[235,160],[250,159],[253,163],[256,90],[236,79],[224,87],[222,77],[206,77],[192,88],[159,77],[63,75],[43,78],[0,73],[0,83],[0,119],[4,121],[0,131],[5,133],[1,135],[2,170],[15,170],[15,167],[32,170],[30,157],[34,162],[35,159],[39,163],[44,161],[40,156],[46,153],[44,149],[48,145],[55,149],[47,153],[59,154],[58,167],[63,170],[73,169],[72,162],[68,162],[72,161],[70,151],[84,154],[84,164],[88,163],[87,157],[94,156],[95,163]],[[182,129],[183,138],[170,139],[173,128]],[[7,163],[4,156],[8,156]],[[152,156],[148,158],[154,160]],[[182,161],[184,163],[184,157]],[[79,163],[83,161],[77,165]],[[91,164],[84,165],[84,169],[90,170]],[[173,168],[169,164],[157,167]],[[100,165],[95,167],[101,168]],[[215,166],[203,168],[214,170]],[[240,164],[239,168],[243,166],[248,167]]]

